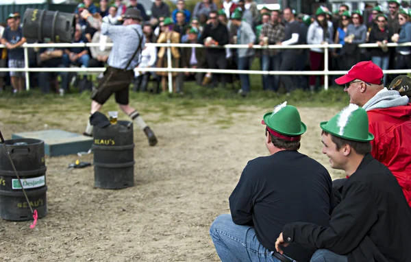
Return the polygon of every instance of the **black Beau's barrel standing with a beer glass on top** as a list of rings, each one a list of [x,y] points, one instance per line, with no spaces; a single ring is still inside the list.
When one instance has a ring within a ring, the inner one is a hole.
[[[95,187],[123,189],[134,186],[133,123],[117,121],[105,128],[94,127]]]

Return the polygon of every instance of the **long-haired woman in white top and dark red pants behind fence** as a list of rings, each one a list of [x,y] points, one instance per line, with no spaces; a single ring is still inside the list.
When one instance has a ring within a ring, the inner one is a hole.
[[[332,22],[327,21],[327,8],[320,6],[315,12],[316,19],[308,27],[307,43],[308,45],[321,45],[324,43],[333,43]],[[310,48],[310,67],[312,71],[324,70],[324,49]],[[316,88],[316,75],[310,75],[310,91],[314,92]],[[324,84],[324,77],[321,76],[321,84]]]

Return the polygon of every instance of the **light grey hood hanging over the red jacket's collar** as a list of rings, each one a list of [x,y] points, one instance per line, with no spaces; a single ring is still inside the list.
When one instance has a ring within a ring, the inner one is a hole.
[[[388,90],[386,87],[376,93],[373,98],[369,99],[362,108],[364,110],[372,110],[377,108],[392,108],[395,106],[406,106],[408,104],[408,97],[406,95],[399,95],[398,91]]]

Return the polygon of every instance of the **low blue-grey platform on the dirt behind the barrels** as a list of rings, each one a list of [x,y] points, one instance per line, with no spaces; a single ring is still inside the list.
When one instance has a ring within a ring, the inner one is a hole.
[[[12,139],[40,139],[45,141],[45,154],[48,156],[64,156],[87,152],[92,145],[92,137],[58,129],[16,133],[12,134]]]

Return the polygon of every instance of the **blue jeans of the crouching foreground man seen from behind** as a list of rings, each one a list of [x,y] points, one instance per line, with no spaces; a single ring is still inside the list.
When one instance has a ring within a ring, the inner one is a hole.
[[[219,215],[210,227],[210,236],[221,261],[281,262],[264,248],[251,226],[240,226],[231,215]]]

